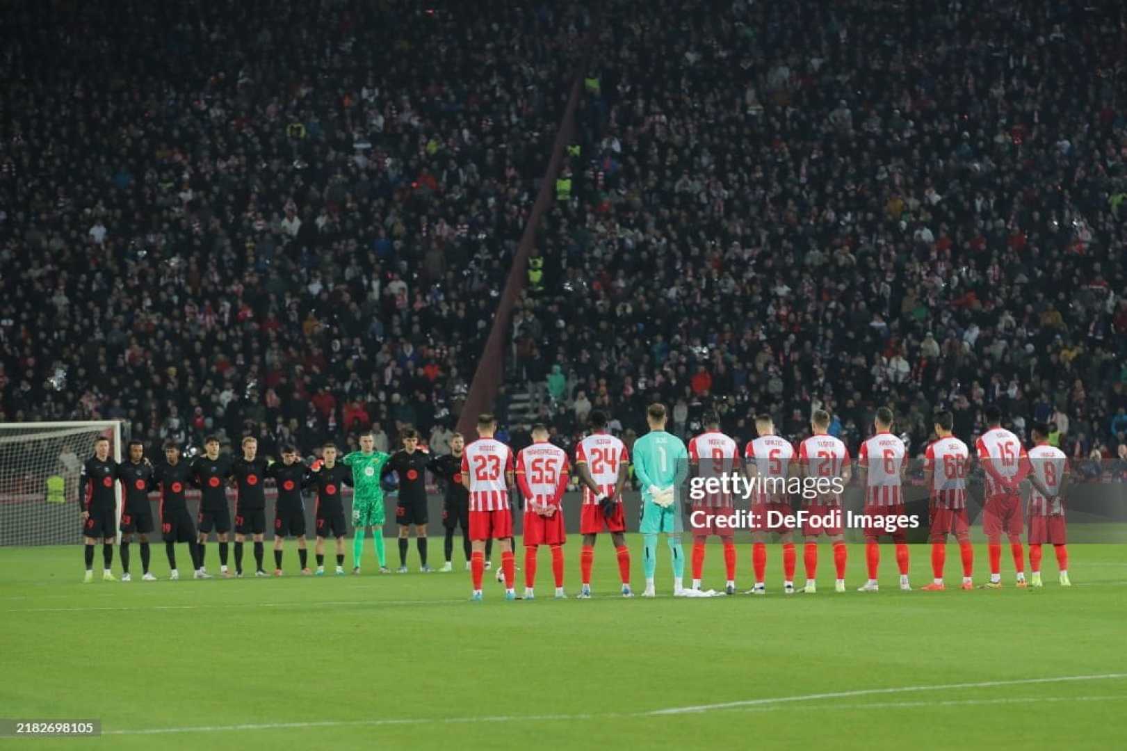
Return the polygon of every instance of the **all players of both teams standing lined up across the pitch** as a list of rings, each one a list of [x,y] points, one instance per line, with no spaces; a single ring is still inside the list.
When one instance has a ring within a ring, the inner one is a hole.
[[[647,412],[650,431],[633,447],[633,471],[642,487],[642,513],[640,531],[645,541],[644,597],[654,597],[654,573],[656,569],[657,537],[667,534],[674,574],[674,594],[699,597],[711,594],[702,591],[706,540],[717,536],[724,542],[726,583],[724,592],[736,592],[736,550],[734,530],[715,519],[722,516],[717,511],[731,507],[731,496],[709,493],[702,497],[694,495],[691,507],[678,507],[675,488],[682,486],[687,475],[707,480],[710,472],[719,467],[739,467],[749,478],[784,479],[795,474],[806,474],[819,478],[841,480],[835,487],[848,481],[853,468],[860,474],[866,486],[863,516],[869,523],[866,529],[866,563],[868,581],[860,591],[878,590],[877,572],[880,563],[879,537],[889,536],[895,544],[896,564],[900,576],[900,589],[909,590],[908,547],[906,544],[904,504],[900,486],[906,468],[904,443],[890,432],[891,414],[879,409],[875,419],[875,434],[863,442],[853,462],[845,445],[827,433],[829,417],[816,410],[811,418],[813,435],[796,449],[788,441],[774,435],[769,416],[756,418],[758,436],[748,442],[743,457],[736,442],[722,434],[715,417],[706,418],[706,432],[692,439],[686,447],[676,436],[666,433],[666,413],[662,405],[651,405]],[[1036,445],[1028,452],[1020,440],[1001,427],[1001,415],[987,409],[988,430],[978,439],[976,453],[986,476],[986,503],[983,510],[984,528],[988,539],[991,580],[985,587],[995,589],[1001,584],[1001,538],[1006,536],[1013,555],[1018,586],[1027,586],[1023,565],[1021,534],[1023,531],[1022,504],[1018,487],[1026,478],[1033,489],[1029,504],[1029,544],[1032,585],[1040,586],[1040,553],[1042,544],[1055,547],[1061,569],[1061,583],[1068,585],[1067,548],[1065,539],[1064,506],[1061,494],[1066,480],[1064,454],[1047,444],[1048,428],[1033,428]],[[935,415],[935,433],[939,436],[926,450],[925,475],[931,488],[931,544],[933,582],[924,590],[942,590],[946,564],[947,539],[953,536],[959,544],[962,559],[962,587],[971,589],[974,551],[969,542],[967,518],[967,469],[971,454],[967,445],[951,435],[952,416],[949,412]],[[108,458],[108,442],[99,440],[95,456],[83,467],[82,487],[86,488],[83,533],[86,536],[86,581],[92,580],[94,546],[104,540],[104,578],[112,578],[109,571],[113,559],[114,537],[114,479],[124,487],[125,503],[121,519],[123,532],[122,564],[128,577],[128,544],[133,533],[141,534],[144,578],[152,578],[148,572],[148,538],[152,531],[148,493],[160,491],[159,518],[161,533],[169,556],[172,577],[177,578],[175,544],[187,542],[193,559],[194,576],[208,578],[204,566],[206,538],[212,530],[219,537],[221,574],[231,576],[227,567],[227,533],[230,516],[227,512],[225,485],[238,488],[236,501],[236,572],[242,575],[242,545],[246,536],[255,542],[257,576],[266,576],[263,568],[263,533],[265,532],[264,480],[273,478],[277,487],[275,516],[274,555],[275,574],[281,575],[282,547],[285,537],[296,537],[302,573],[312,574],[307,566],[304,501],[302,491],[316,488],[316,555],[317,574],[323,574],[325,541],[336,539],[337,574],[344,574],[344,538],[346,524],[340,491],[345,486],[354,488],[353,524],[354,568],[360,573],[364,537],[373,533],[376,559],[382,572],[385,566],[382,525],[384,523],[383,488],[381,478],[391,471],[400,477],[400,493],[397,504],[397,522],[400,525],[400,572],[406,572],[407,539],[410,527],[415,527],[423,571],[426,565],[426,492],[423,470],[429,469],[446,483],[446,565],[451,569],[453,531],[463,531],[463,544],[468,567],[473,584],[473,600],[482,599],[481,580],[486,569],[489,547],[496,540],[502,551],[498,578],[505,583],[506,599],[517,599],[515,577],[515,555],[513,551],[513,510],[509,507],[511,491],[516,487],[524,501],[525,547],[525,593],[524,599],[534,597],[536,554],[540,546],[551,550],[556,597],[564,593],[564,555],[566,529],[560,502],[569,480],[571,462],[567,453],[548,441],[543,426],[533,430],[533,444],[515,456],[509,447],[494,439],[496,428],[491,415],[482,414],[478,421],[479,439],[463,445],[461,436],[452,441],[452,453],[429,457],[417,445],[417,436],[408,433],[403,450],[387,454],[373,450],[371,435],[361,438],[361,450],[345,457],[337,457],[336,447],[323,447],[322,459],[307,466],[292,447],[282,451],[282,461],[267,463],[257,458],[257,442],[243,439],[243,456],[229,461],[219,454],[218,441],[205,443],[206,453],[188,465],[179,460],[175,445],[166,449],[166,460],[153,467],[142,456],[140,444],[130,445],[130,460],[115,465]],[[1036,461],[1033,461],[1036,459]],[[579,598],[591,597],[591,572],[594,562],[594,544],[597,534],[609,532],[618,558],[622,582],[622,594],[632,597],[630,586],[630,551],[625,545],[625,519],[622,491],[628,478],[631,457],[622,441],[606,432],[606,417],[594,412],[591,415],[591,433],[576,447],[574,467],[583,486],[580,510],[582,589]],[[713,475],[715,477],[715,475]],[[99,479],[100,478],[100,479]],[[698,483],[712,487],[709,483]],[[771,487],[761,483],[758,487]],[[198,531],[188,514],[185,502],[187,487],[198,487],[202,493]],[[100,493],[99,493],[100,492]],[[99,502],[100,501],[100,502]],[[692,527],[692,584],[683,585],[684,553],[681,546],[682,511],[692,511],[691,516],[709,520]],[[706,513],[708,512],[708,513]],[[841,498],[831,492],[813,498],[804,509],[806,523],[800,524],[805,537],[804,563],[807,581],[800,591],[815,591],[815,575],[818,563],[817,540],[829,538],[836,571],[835,589],[845,591],[845,567],[848,551],[841,519]],[[752,501],[752,519],[765,520],[752,528],[752,562],[755,574],[749,594],[766,591],[766,539],[778,533],[782,544],[783,592],[796,591],[793,578],[797,554],[793,544],[796,528],[791,523],[774,520],[792,520],[789,497],[760,491]]]

